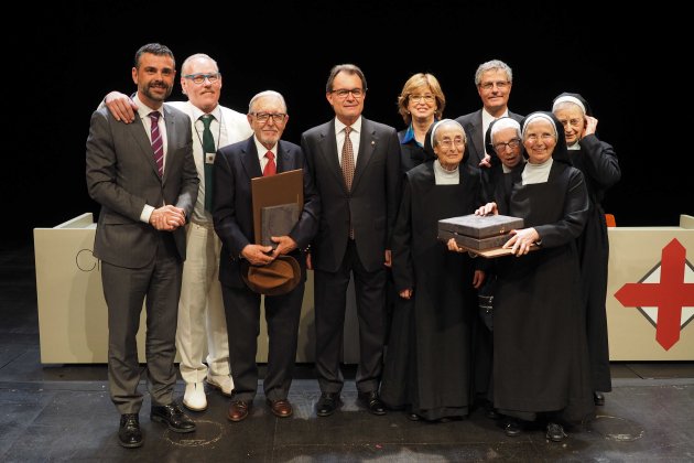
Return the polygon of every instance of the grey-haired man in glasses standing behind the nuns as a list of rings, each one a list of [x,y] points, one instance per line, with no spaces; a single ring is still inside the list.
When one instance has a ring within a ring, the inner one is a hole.
[[[491,60],[477,67],[475,85],[482,101],[482,108],[456,119],[467,132],[465,159],[473,166],[489,166],[491,154],[485,149],[485,133],[489,123],[503,116],[521,121],[521,115],[509,111],[509,97],[513,86],[513,72],[508,64]],[[491,200],[490,200],[491,201]]]

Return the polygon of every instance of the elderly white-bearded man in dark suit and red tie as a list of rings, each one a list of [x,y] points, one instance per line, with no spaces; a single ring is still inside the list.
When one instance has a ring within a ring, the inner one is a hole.
[[[228,335],[234,341],[229,343],[235,386],[228,412],[231,421],[248,417],[258,389],[256,353],[260,333],[260,293],[249,288],[243,272],[248,272],[247,263],[267,266],[280,256],[296,259],[301,279],[288,293],[264,298],[270,352],[263,389],[272,413],[280,418],[292,414],[288,394],[306,280],[304,250],[317,230],[321,204],[301,148],[280,141],[288,120],[282,95],[272,90],[256,95],[248,114],[254,134],[219,149],[215,159],[213,218],[215,232],[221,239],[219,281]],[[272,246],[253,244],[251,179],[296,169],[304,169],[304,204],[299,222],[289,235],[272,239],[276,244],[274,250]]]

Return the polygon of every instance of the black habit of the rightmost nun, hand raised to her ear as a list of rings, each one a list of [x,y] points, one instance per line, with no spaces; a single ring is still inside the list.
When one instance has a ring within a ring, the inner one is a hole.
[[[600,203],[605,192],[619,181],[621,171],[615,150],[608,143],[595,136],[587,136],[579,141],[579,146],[581,150],[571,150],[568,153],[574,166],[583,172],[590,200],[586,227],[577,240],[590,377],[593,390],[608,392],[612,390],[605,308],[609,240]]]

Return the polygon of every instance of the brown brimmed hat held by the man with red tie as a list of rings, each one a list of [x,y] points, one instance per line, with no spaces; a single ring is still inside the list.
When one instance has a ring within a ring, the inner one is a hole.
[[[247,266],[248,270],[242,269],[241,277],[248,288],[260,294],[286,294],[301,281],[301,267],[292,256],[278,256],[264,266]]]

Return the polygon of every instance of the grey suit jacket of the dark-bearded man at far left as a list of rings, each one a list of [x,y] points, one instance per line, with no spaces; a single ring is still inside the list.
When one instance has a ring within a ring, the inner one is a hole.
[[[122,123],[107,108],[91,115],[87,138],[87,189],[101,205],[94,255],[119,267],[141,268],[156,252],[158,232],[140,220],[145,204],[173,204],[191,216],[199,179],[193,159],[191,119],[167,105],[166,161],[160,179],[152,144],[142,120]],[[185,260],[185,229],[173,232],[176,249]]]

